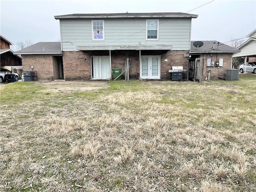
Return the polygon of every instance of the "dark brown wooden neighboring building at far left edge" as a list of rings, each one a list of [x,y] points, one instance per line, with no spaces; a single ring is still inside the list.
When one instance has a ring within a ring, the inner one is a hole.
[[[8,70],[12,68],[22,68],[22,60],[20,55],[14,55],[14,51],[10,49],[10,45],[14,45],[7,38],[0,35],[0,67]]]

